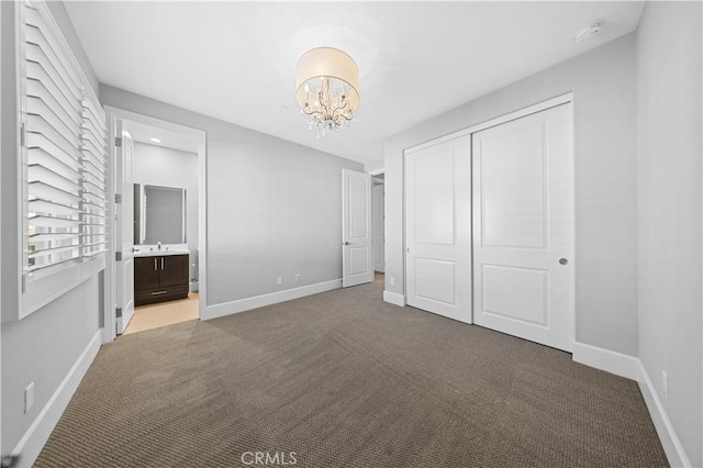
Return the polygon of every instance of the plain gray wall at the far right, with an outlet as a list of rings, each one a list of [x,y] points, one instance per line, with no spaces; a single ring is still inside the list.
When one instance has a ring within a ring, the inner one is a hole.
[[[703,466],[701,10],[647,2],[637,31],[639,357],[695,467]]]

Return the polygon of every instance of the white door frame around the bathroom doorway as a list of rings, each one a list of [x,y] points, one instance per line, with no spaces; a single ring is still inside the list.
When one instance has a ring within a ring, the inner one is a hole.
[[[191,135],[198,138],[198,161],[199,161],[199,175],[198,175],[198,290],[199,290],[199,316],[202,316],[203,311],[205,310],[205,304],[208,303],[207,293],[208,293],[208,191],[205,188],[205,177],[207,177],[207,134],[202,130],[192,129],[190,126],[180,125],[174,122],[168,122],[160,119],[155,119],[148,115],[140,114],[136,112],[127,111],[124,109],[115,108],[112,105],[104,107],[107,113],[107,123],[109,127],[109,155],[108,155],[108,164],[110,167],[110,176],[108,183],[108,197],[110,200],[108,210],[108,219],[110,220],[110,225],[108,232],[110,234],[110,244],[109,252],[107,257],[107,266],[104,270],[104,301],[103,301],[103,322],[102,322],[102,343],[111,343],[115,336],[115,252],[120,248],[113,242],[116,234],[116,224],[114,222],[115,211],[114,211],[114,196],[118,192],[115,190],[116,183],[116,160],[114,157],[114,138],[115,129],[118,120],[129,120],[134,122],[144,123],[152,126],[158,126],[161,129],[179,132],[182,134]]]

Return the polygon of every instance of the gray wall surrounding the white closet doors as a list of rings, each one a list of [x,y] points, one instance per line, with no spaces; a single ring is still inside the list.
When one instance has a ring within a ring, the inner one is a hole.
[[[634,82],[635,35],[628,34],[387,141],[386,289],[404,290],[403,149],[573,91],[577,339],[636,356]]]

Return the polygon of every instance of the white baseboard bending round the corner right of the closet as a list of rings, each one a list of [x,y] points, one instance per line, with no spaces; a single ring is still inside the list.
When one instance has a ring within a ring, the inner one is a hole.
[[[616,376],[636,380],[645,399],[647,410],[657,430],[665,454],[672,467],[690,467],[689,457],[683,450],[667,411],[657,394],[649,374],[639,358],[599,348],[583,343],[573,344],[573,360]]]

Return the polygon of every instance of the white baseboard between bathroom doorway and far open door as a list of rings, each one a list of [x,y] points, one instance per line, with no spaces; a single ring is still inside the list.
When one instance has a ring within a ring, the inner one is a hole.
[[[342,278],[317,282],[315,285],[302,286],[300,288],[286,289],[283,291],[271,292],[268,294],[255,296],[253,298],[239,299],[236,301],[225,302],[223,304],[208,305],[204,311],[201,311],[200,320],[217,319],[220,316],[277,304],[279,302],[304,298],[305,296],[317,294],[320,292],[332,291],[333,289],[339,288],[342,288]]]

